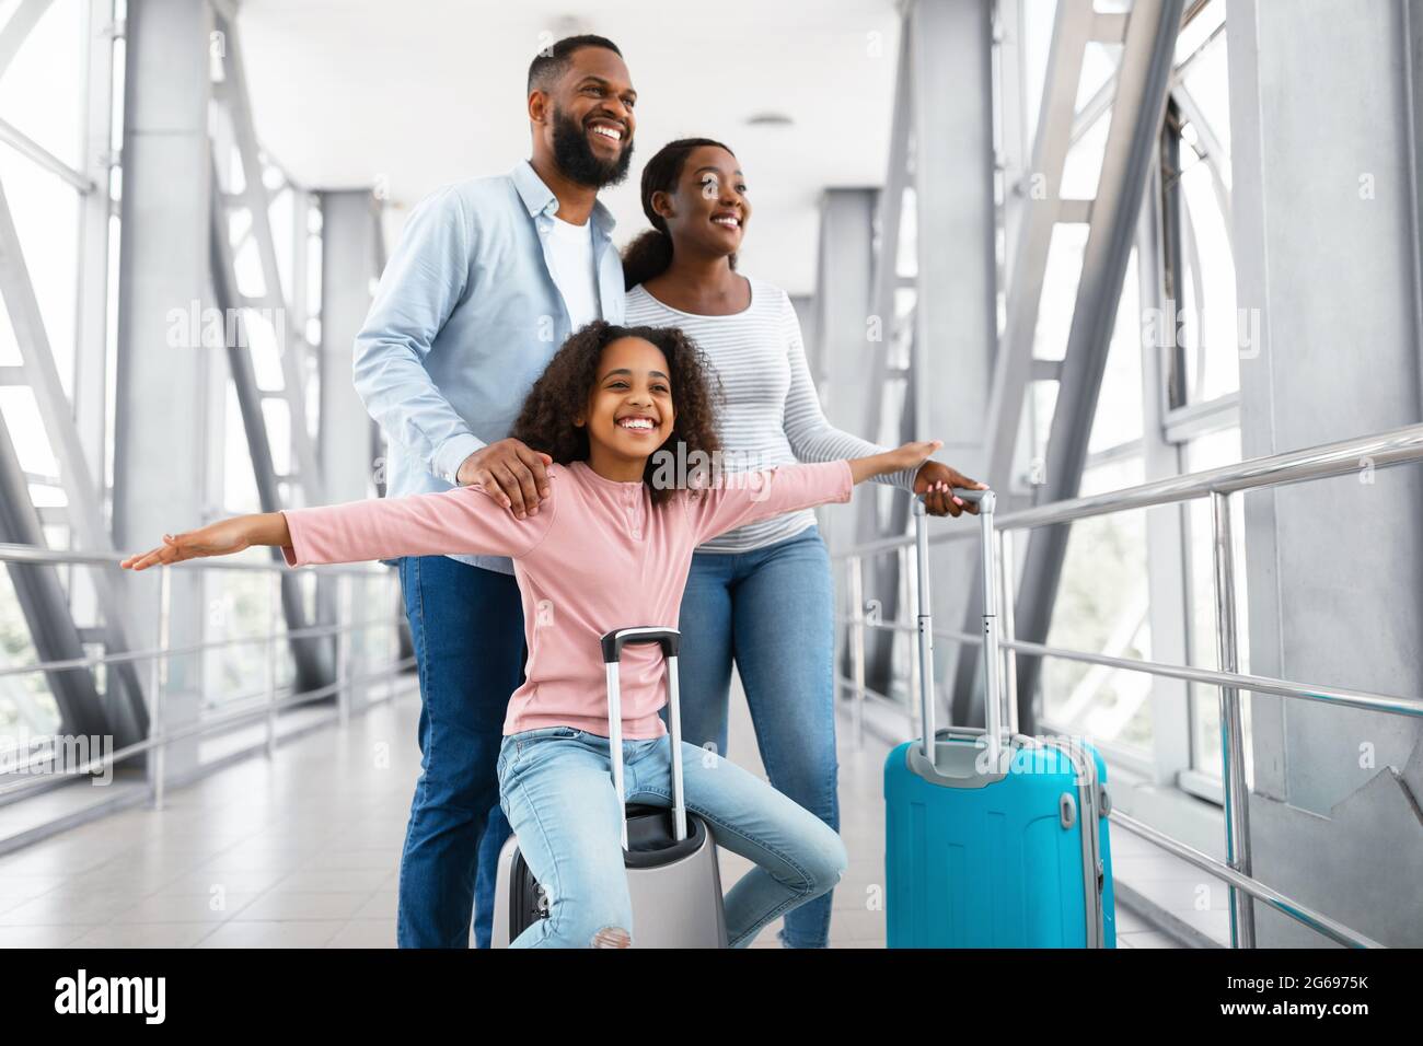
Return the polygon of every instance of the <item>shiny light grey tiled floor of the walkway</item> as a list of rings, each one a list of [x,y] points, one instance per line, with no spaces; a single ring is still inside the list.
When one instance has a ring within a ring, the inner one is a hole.
[[[763,773],[740,693],[730,757]],[[394,946],[396,884],[418,774],[414,690],[168,793],[0,857],[0,946]],[[831,945],[882,948],[885,746],[841,727],[851,865]],[[721,851],[723,885],[748,867]],[[1175,946],[1120,911],[1121,946]],[[777,946],[780,922],[753,946]]]

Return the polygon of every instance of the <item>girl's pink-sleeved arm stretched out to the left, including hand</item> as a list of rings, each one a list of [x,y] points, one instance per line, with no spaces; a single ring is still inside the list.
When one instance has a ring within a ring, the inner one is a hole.
[[[457,487],[404,498],[373,498],[344,505],[287,508],[221,519],[184,534],[120,565],[142,571],[198,556],[232,555],[272,545],[292,566],[394,559],[404,555],[507,555],[532,551],[558,512],[558,467],[549,470],[549,495],[536,515],[518,519],[484,487]]]

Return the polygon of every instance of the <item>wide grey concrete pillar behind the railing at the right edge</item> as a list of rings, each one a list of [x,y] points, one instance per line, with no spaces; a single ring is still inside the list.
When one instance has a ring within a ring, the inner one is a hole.
[[[1407,73],[1419,10],[1231,3],[1247,458],[1423,414]],[[1358,475],[1247,495],[1249,669],[1423,692],[1420,507],[1417,468],[1373,474],[1368,461]],[[1248,700],[1257,878],[1383,944],[1423,944],[1423,727],[1316,702]],[[1322,942],[1255,911],[1262,948]]]

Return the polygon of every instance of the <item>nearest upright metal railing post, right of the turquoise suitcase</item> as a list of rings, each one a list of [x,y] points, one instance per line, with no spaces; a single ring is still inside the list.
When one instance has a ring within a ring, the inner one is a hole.
[[[1211,548],[1215,559],[1215,643],[1221,672],[1239,672],[1235,620],[1235,542],[1231,497],[1211,492]],[[1251,875],[1249,790],[1245,783],[1245,731],[1241,726],[1241,693],[1220,687],[1221,794],[1225,798],[1225,861],[1241,875]],[[1255,946],[1255,902],[1244,889],[1229,887],[1231,946]]]

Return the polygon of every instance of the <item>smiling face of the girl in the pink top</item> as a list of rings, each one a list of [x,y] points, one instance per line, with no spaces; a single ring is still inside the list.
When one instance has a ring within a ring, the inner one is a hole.
[[[588,408],[573,420],[588,426],[589,453],[603,461],[638,461],[672,435],[672,367],[652,342],[619,337],[603,347]]]

